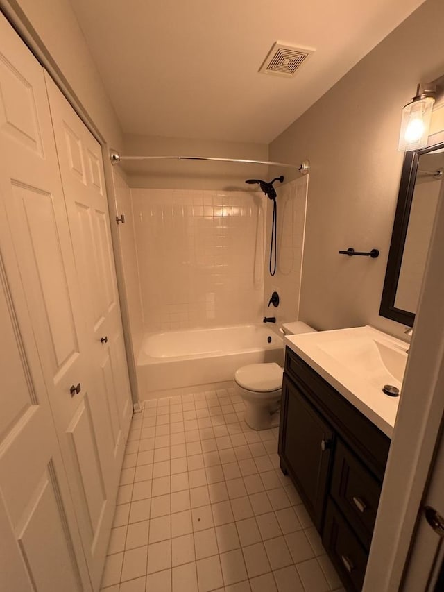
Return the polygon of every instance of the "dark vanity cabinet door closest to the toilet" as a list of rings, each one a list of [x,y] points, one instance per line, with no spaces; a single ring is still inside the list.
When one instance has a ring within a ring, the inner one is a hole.
[[[285,374],[281,414],[280,456],[321,530],[334,434]]]

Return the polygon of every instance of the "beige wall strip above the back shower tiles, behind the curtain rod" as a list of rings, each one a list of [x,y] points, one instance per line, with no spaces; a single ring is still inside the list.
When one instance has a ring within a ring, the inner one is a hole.
[[[215,158],[246,158],[268,160],[266,144],[242,144],[210,140],[125,135],[126,155],[212,156]],[[123,153],[122,153],[123,154]],[[153,189],[215,189],[230,191],[246,189],[248,178],[266,179],[268,167],[260,164],[234,162],[123,162],[131,187]]]

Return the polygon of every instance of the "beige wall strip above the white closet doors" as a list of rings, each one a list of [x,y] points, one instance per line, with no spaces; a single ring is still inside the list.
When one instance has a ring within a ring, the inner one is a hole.
[[[69,0],[6,0],[5,5],[6,11],[18,15],[22,22],[28,19],[35,29],[33,38],[44,44],[44,53],[62,73],[105,142],[119,149],[123,142],[119,121]]]

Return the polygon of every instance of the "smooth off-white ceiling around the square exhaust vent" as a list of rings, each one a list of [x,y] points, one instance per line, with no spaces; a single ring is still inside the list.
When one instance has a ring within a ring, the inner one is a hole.
[[[124,133],[268,144],[424,0],[71,0]],[[316,49],[259,74],[275,41]]]

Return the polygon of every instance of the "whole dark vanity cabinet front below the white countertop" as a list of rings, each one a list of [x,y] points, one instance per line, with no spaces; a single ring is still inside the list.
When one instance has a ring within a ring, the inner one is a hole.
[[[361,590],[390,439],[287,347],[281,468],[346,589]]]

